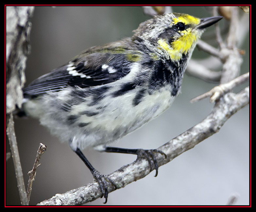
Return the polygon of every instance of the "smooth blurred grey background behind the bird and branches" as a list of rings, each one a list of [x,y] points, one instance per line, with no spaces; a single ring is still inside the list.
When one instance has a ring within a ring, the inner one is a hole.
[[[200,18],[212,16],[206,7],[172,7],[172,11]],[[243,13],[242,10],[239,12]],[[133,6],[35,7],[26,84],[89,47],[132,36],[132,30],[148,18],[141,7]],[[220,22],[225,33],[228,21],[223,19]],[[246,34],[239,46],[245,50],[241,74],[249,71],[249,33]],[[217,47],[214,27],[207,29],[201,39]],[[192,58],[208,56],[195,49]],[[190,99],[215,85],[217,83],[204,82],[185,74],[181,94],[172,107],[125,136],[115,146],[157,148],[196,125],[211,112],[213,104],[209,103],[209,98],[193,104]],[[247,85],[239,86],[235,92]],[[19,118],[14,121],[25,186],[39,143],[47,145],[33,182],[30,204],[92,182],[92,174],[69,145],[50,135],[38,120]],[[8,140],[6,146],[9,152]],[[134,155],[100,153],[91,149],[83,152],[102,174],[110,174],[136,159]],[[161,166],[157,177],[154,174],[155,171],[111,192],[107,205],[225,205],[232,195],[238,197],[237,205],[249,204],[249,106],[234,114],[218,133]],[[6,204],[20,205],[12,159],[6,162],[6,191]],[[97,199],[87,205],[104,205],[104,201]]]

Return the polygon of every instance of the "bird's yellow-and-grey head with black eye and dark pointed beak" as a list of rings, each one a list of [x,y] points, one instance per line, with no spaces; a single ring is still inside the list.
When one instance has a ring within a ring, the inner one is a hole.
[[[196,18],[183,13],[156,16],[134,30],[133,40],[144,41],[167,59],[179,61],[193,51],[204,29],[222,19],[221,16]]]

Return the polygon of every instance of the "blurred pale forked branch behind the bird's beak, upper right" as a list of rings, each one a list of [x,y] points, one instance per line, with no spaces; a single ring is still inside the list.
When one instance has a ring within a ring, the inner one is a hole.
[[[191,64],[188,64],[187,73],[203,80],[219,80],[221,84],[227,83],[239,76],[242,58],[237,45],[238,41],[239,44],[243,42],[249,28],[247,17],[248,14],[242,14],[240,18],[238,9],[239,7],[213,7],[213,16],[217,16],[217,12],[222,11],[221,15],[230,20],[227,42],[224,42],[221,38],[220,27],[218,23],[214,24],[216,29],[216,40],[220,50],[212,47],[202,40],[199,40],[197,44],[199,50],[203,50],[206,53],[209,53],[210,55],[220,59],[220,61],[223,63],[221,77],[219,77],[220,72],[213,72],[209,68],[203,68],[193,61],[191,61]],[[225,14],[225,12],[228,12],[229,14]],[[238,27],[239,33],[237,30]],[[212,64],[209,62],[209,58],[205,60],[206,61],[201,62],[204,64]]]

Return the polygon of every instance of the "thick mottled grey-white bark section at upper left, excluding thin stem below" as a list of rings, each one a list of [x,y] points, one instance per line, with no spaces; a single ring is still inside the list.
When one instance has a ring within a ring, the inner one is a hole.
[[[21,107],[34,7],[6,7],[6,113]]]

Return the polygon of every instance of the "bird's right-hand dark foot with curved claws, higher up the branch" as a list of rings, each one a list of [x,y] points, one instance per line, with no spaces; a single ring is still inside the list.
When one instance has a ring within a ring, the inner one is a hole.
[[[152,171],[151,159],[154,161],[155,170],[156,170],[155,177],[156,177],[158,174],[158,164],[157,164],[157,160],[155,157],[155,153],[162,154],[162,155],[164,155],[165,158],[167,158],[167,156],[164,152],[157,150],[157,149],[138,149],[138,158],[145,158],[148,161],[148,163],[150,165],[150,172]]]

